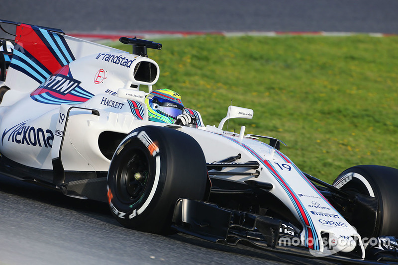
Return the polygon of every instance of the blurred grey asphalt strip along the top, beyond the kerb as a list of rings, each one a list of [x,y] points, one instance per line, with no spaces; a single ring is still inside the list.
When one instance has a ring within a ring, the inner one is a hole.
[[[0,19],[70,31],[398,33],[397,0],[9,0]]]

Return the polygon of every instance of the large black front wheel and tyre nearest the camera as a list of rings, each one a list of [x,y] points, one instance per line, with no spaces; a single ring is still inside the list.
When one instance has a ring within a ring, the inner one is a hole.
[[[194,138],[175,129],[143,126],[132,131],[113,155],[108,203],[122,225],[166,234],[177,200],[203,199],[206,181],[206,162]]]

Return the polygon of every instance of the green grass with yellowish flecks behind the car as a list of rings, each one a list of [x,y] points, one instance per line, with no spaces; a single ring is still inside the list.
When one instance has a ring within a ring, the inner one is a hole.
[[[218,125],[233,105],[252,120],[229,130],[273,136],[304,172],[328,182],[348,167],[398,168],[398,37],[223,37],[153,40],[154,88]],[[131,46],[116,45],[131,51]]]

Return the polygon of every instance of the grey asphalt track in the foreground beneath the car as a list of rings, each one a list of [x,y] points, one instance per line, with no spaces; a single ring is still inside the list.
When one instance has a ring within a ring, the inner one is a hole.
[[[0,177],[0,265],[329,264],[126,229],[108,206]]]

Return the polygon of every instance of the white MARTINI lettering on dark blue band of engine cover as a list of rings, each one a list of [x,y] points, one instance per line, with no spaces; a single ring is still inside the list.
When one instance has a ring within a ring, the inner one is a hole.
[[[77,88],[80,83],[82,82],[71,77],[58,74],[47,79],[43,84],[40,85],[39,88],[66,95],[73,89]]]

